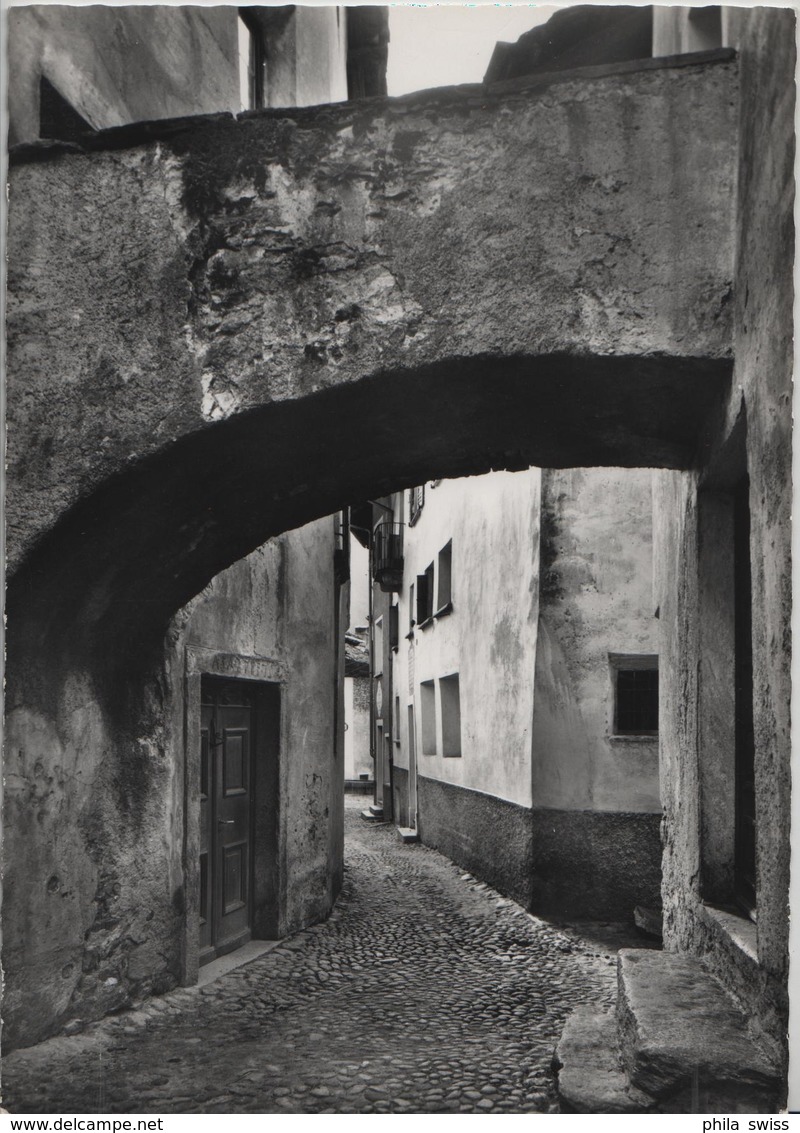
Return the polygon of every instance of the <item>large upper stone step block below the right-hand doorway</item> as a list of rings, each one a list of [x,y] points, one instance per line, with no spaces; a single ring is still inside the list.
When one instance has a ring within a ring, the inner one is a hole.
[[[748,1033],[747,1016],[695,956],[625,948],[616,1025],[637,1089],[669,1113],[775,1113],[781,1074]]]

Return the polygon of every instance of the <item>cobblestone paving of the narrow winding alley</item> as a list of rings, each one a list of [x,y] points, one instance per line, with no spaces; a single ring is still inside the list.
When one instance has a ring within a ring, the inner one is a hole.
[[[11,1113],[554,1111],[572,1007],[613,952],[528,917],[348,799],[331,918],[203,989],[3,1059]]]

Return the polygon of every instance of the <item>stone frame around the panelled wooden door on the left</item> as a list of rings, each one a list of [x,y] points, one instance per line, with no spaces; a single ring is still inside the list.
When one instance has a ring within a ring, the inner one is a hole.
[[[199,972],[199,742],[201,682],[204,676],[258,684],[255,731],[261,750],[255,761],[253,804],[252,939],[278,939],[284,920],[280,868],[282,853],[281,758],[286,665],[270,657],[223,653],[203,646],[186,647],[184,696],[184,922],[180,982],[197,982]]]

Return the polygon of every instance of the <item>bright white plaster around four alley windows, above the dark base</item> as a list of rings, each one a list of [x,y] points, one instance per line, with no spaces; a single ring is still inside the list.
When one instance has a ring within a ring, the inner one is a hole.
[[[407,528],[399,613],[402,647],[394,658],[394,692],[400,696],[395,764],[408,767],[407,706],[414,701],[420,775],[522,807],[530,806],[538,508],[538,469],[426,487],[422,514]],[[409,641],[405,634],[410,586],[431,563],[437,570],[439,552],[450,540],[452,612],[425,628],[415,627]],[[499,546],[502,554],[491,554]],[[442,753],[439,687],[437,753],[425,755],[419,684],[453,673],[459,674],[460,685],[461,755]]]

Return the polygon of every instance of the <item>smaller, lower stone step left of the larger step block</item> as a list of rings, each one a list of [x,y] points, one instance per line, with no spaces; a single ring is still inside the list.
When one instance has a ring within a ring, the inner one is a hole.
[[[578,1007],[567,1020],[553,1066],[564,1113],[646,1114],[655,1102],[631,1085],[622,1066],[614,1008]]]

